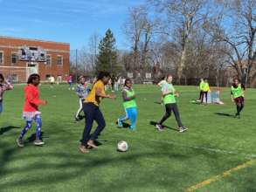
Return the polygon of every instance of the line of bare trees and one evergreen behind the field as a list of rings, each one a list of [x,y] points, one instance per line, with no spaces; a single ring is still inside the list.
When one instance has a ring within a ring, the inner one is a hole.
[[[255,0],[148,0],[128,9],[122,31],[127,49],[118,50],[111,30],[94,33],[80,50],[79,72],[106,70],[114,75],[196,85],[208,78],[227,86],[237,76],[256,86]]]

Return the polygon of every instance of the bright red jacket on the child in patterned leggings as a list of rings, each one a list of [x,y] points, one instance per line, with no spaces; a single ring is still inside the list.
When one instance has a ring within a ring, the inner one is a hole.
[[[24,112],[36,112],[38,111],[38,106],[43,103],[39,99],[38,87],[32,84],[29,84],[24,87]]]

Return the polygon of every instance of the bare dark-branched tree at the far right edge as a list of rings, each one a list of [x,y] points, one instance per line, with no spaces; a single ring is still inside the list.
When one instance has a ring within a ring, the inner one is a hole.
[[[256,72],[253,72],[256,63],[256,1],[231,0],[218,3],[225,14],[222,20],[209,24],[212,35],[218,42],[225,42],[229,46],[228,50],[232,50],[223,51],[230,58],[230,64],[239,79],[247,84],[250,76],[252,80],[253,77],[256,78]],[[229,26],[225,25],[226,22],[229,22]]]

